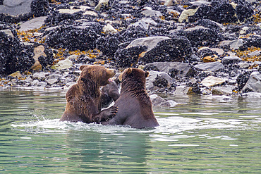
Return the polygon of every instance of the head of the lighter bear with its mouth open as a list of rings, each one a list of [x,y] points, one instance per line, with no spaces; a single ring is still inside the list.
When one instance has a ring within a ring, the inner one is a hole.
[[[104,66],[80,66],[79,80],[83,82],[92,81],[98,86],[105,86],[109,84],[109,78],[114,77],[116,71],[114,69],[108,69]]]

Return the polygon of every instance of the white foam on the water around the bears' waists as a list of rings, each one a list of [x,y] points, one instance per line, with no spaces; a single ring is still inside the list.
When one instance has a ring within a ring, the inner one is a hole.
[[[218,113],[186,113],[188,115],[212,116]],[[99,125],[86,123],[60,122],[59,119],[35,120],[29,123],[13,123],[11,126],[18,130],[28,132],[67,132],[75,131],[94,131],[107,135],[116,135],[121,132],[154,132],[160,134],[159,137],[153,137],[154,140],[160,141],[178,141],[176,138],[164,137],[164,135],[174,134],[177,132],[199,130],[199,129],[226,129],[226,128],[249,128],[250,123],[257,123],[260,120],[240,120],[240,119],[217,119],[217,118],[188,118],[176,116],[176,113],[155,113],[159,122],[159,127],[154,129],[134,129],[122,125]],[[165,116],[165,117],[163,117]],[[167,117],[166,117],[167,116]],[[35,116],[39,119],[41,116]],[[42,118],[43,119],[43,118]]]

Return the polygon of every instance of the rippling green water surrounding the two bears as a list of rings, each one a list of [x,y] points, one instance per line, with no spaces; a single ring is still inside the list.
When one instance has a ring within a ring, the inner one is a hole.
[[[261,97],[168,97],[160,126],[60,123],[64,92],[0,91],[0,173],[261,173]]]

